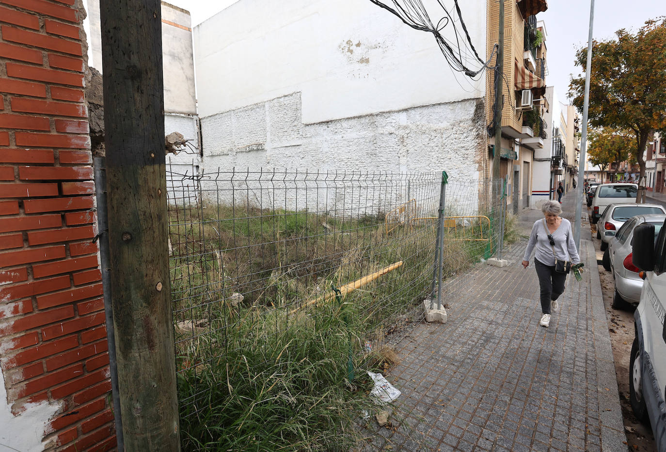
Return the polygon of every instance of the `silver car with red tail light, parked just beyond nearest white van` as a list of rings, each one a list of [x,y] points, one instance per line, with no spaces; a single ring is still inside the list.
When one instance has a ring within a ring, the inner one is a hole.
[[[615,282],[615,296],[613,308],[620,309],[624,303],[637,305],[641,299],[643,279],[639,276],[639,269],[633,265],[631,259],[631,239],[633,230],[638,225],[655,225],[655,234],[658,234],[666,220],[666,215],[636,215],[631,217],[620,227],[603,253],[603,267],[613,274]]]

